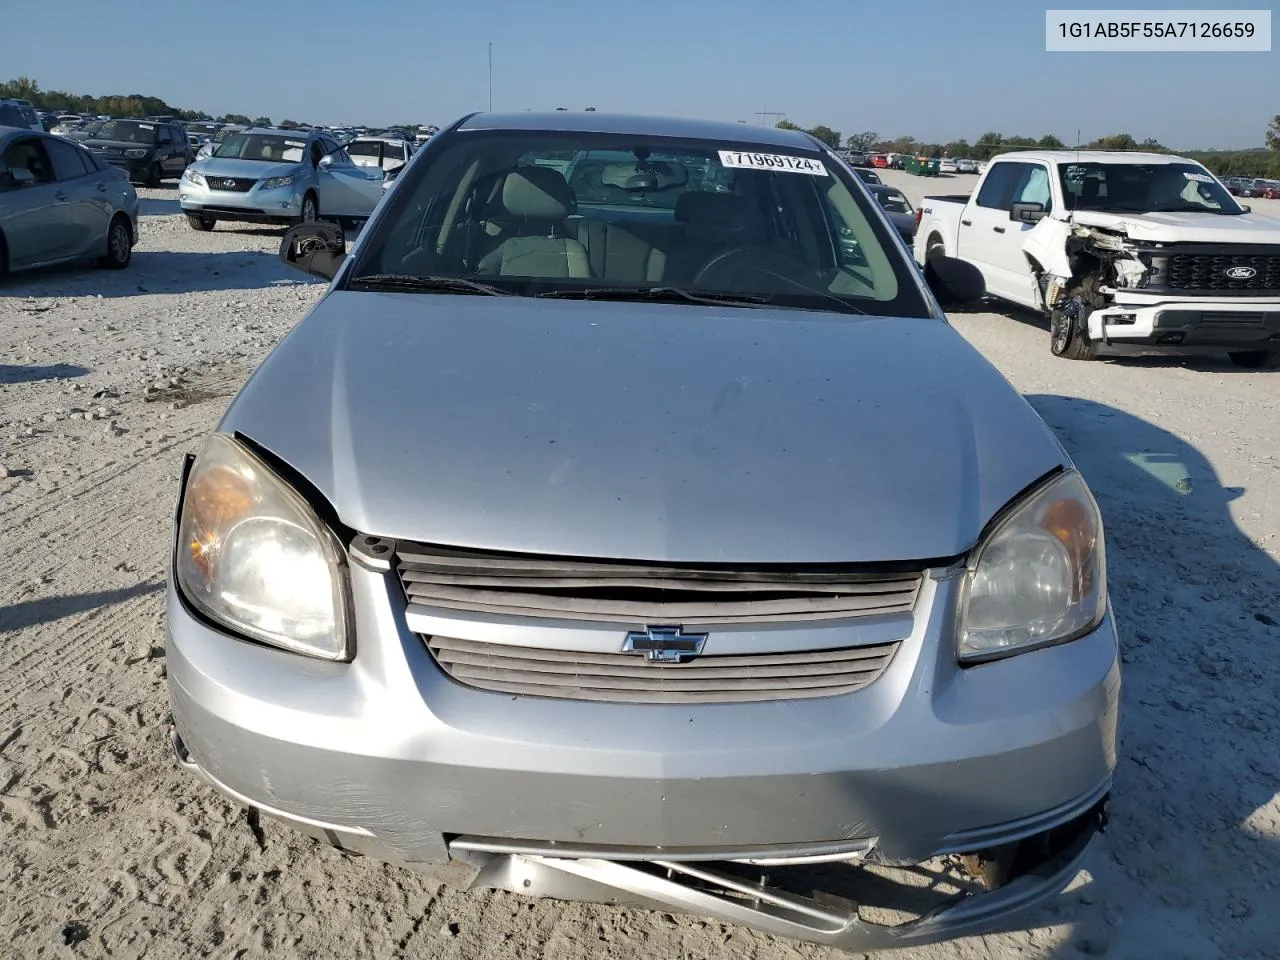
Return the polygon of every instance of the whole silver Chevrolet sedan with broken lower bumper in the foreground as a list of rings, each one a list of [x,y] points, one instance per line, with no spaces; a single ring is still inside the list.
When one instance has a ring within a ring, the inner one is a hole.
[[[801,132],[474,115],[349,255],[291,229],[332,285],[183,472],[178,760],[462,884],[855,951],[1060,892],[1102,520],[947,324],[980,276],[874,204]]]

